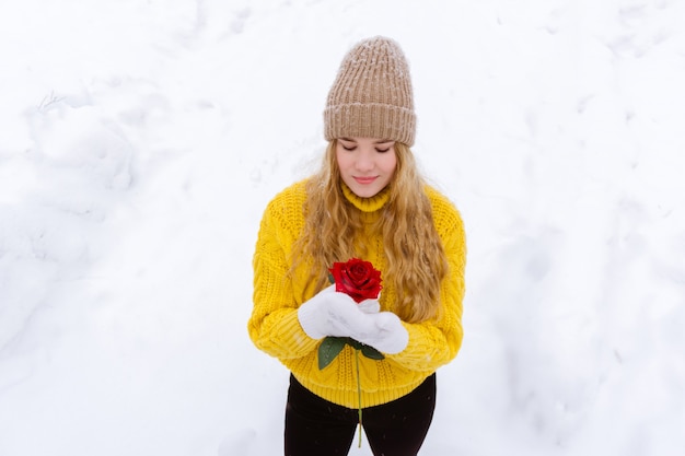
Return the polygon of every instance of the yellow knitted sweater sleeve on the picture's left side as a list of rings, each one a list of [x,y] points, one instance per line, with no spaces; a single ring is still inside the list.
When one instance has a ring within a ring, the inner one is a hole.
[[[289,211],[293,204],[281,195],[265,210],[253,257],[253,313],[247,331],[255,346],[280,360],[302,358],[316,349],[298,320],[287,255],[297,236]],[[297,207],[297,204],[294,204]]]

